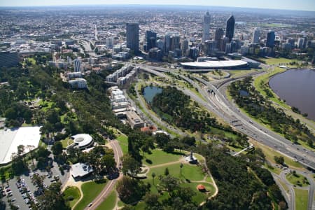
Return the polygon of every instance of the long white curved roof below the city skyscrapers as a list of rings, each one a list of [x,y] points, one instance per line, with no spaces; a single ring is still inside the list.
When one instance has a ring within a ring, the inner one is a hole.
[[[185,62],[182,66],[191,69],[224,69],[245,66],[247,62],[242,60],[223,60],[223,61],[205,61],[205,62]]]

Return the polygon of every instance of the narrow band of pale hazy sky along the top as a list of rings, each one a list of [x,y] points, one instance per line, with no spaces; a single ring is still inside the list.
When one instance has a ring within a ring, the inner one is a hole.
[[[271,1],[265,0],[261,1],[198,1],[198,3],[191,3],[191,1],[174,1],[174,0],[162,0],[162,1],[126,1],[126,0],[116,0],[115,3],[104,2],[99,0],[90,0],[88,3],[83,0],[13,0],[0,2],[0,7],[29,7],[29,6],[214,6],[214,7],[232,7],[232,8],[257,8],[257,9],[275,9],[275,10],[301,10],[301,11],[315,11],[315,1],[313,0],[280,0],[280,1]]]

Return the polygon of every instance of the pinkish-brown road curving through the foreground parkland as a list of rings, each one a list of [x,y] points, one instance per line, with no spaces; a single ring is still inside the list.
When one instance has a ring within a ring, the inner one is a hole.
[[[115,161],[117,164],[117,168],[119,168],[120,166],[120,158],[123,157],[123,151],[120,148],[120,145],[118,144],[117,140],[112,140],[109,142],[109,144],[111,145],[111,148],[113,148],[113,153],[114,153],[114,157],[115,157]],[[120,179],[123,176],[123,174],[119,174],[118,179]],[[112,179],[109,181],[109,183],[106,184],[105,188],[102,190],[102,192],[94,199],[94,201],[92,202],[92,206],[91,207],[86,207],[85,210],[87,209],[97,209],[97,207],[102,204],[102,202],[106,199],[106,197],[109,196],[109,194],[111,193],[111,191],[113,190],[113,188],[115,188],[116,182],[118,181],[118,179]]]

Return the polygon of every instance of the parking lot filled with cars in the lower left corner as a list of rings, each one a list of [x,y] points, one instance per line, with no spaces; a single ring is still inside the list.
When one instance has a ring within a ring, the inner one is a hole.
[[[29,197],[34,199],[34,202],[36,202],[36,196],[34,196],[34,192],[37,190],[37,187],[31,182],[31,176],[35,173],[40,176],[45,176],[43,181],[44,186],[50,186],[55,178],[59,179],[61,183],[64,183],[66,179],[68,179],[69,172],[64,171],[64,175],[62,175],[59,172],[58,166],[55,162],[53,162],[52,166],[51,174],[48,174],[48,172],[45,171],[35,170],[33,172],[29,172],[29,174],[23,174],[22,176],[15,179],[10,179],[10,181],[8,181],[8,186],[7,183],[3,183],[3,186],[6,187],[3,189],[3,193],[6,194],[6,197],[3,198],[3,201],[6,202],[7,209],[10,209],[8,200],[14,200],[12,203],[15,206],[18,206],[19,209],[29,209],[29,204],[27,204],[27,193],[24,193],[22,188],[26,188]]]

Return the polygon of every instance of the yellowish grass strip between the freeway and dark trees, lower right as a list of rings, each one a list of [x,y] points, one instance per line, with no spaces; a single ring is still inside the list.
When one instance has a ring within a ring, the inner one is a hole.
[[[266,155],[266,159],[269,162],[272,162],[272,163],[276,164],[276,162],[274,162],[274,156],[283,156],[284,163],[286,165],[288,165],[289,167],[295,168],[295,169],[302,169],[302,170],[304,170],[304,168],[302,167],[302,165],[299,162],[294,162],[291,158],[288,158],[286,155],[282,155],[281,153],[278,153],[277,151],[274,151],[272,148],[269,148],[269,147],[267,147],[265,145],[259,144],[257,141],[250,141],[250,142],[255,147],[262,149],[262,152]]]

